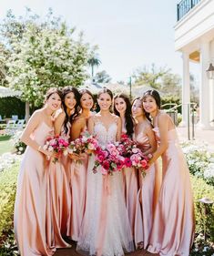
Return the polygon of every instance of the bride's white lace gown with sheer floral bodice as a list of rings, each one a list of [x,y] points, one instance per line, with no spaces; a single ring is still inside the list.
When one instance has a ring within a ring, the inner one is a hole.
[[[117,121],[106,128],[95,117],[94,133],[100,146],[115,141]],[[99,169],[93,173],[94,157],[87,169],[87,205],[77,251],[85,255],[120,256],[133,251],[131,228],[123,195],[122,173],[103,176]]]

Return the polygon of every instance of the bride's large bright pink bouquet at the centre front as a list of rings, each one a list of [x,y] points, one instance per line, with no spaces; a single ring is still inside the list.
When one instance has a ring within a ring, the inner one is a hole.
[[[120,155],[117,144],[108,143],[106,148],[97,147],[95,155],[94,173],[97,173],[99,166],[103,175],[113,175],[124,167],[125,159]]]

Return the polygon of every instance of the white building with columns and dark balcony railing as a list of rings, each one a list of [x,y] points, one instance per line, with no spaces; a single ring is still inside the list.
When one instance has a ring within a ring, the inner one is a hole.
[[[199,63],[200,72],[199,126],[209,129],[214,119],[214,79],[209,79],[207,72],[210,64],[214,66],[214,0],[182,0],[177,14],[175,48],[182,52],[183,58],[183,124],[188,120],[189,62],[192,61]]]

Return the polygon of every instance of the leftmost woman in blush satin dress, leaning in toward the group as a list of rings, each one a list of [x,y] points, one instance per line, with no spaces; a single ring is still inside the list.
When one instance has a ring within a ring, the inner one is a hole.
[[[49,247],[51,225],[46,156],[57,157],[43,149],[53,132],[52,115],[61,106],[61,92],[50,88],[46,105],[29,119],[21,140],[27,145],[17,180],[15,197],[15,240],[22,256],[53,255]]]

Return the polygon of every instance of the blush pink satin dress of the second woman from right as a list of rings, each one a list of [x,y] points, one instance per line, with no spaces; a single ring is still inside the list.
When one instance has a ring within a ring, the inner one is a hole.
[[[136,141],[138,142],[138,147],[142,149],[142,152],[150,148],[148,136],[144,134],[143,126],[136,136]],[[140,247],[146,249],[151,234],[157,194],[160,187],[157,164],[153,164],[147,170],[145,177],[142,176],[140,171],[138,172],[138,175],[139,190],[135,216],[135,243],[137,248]]]

